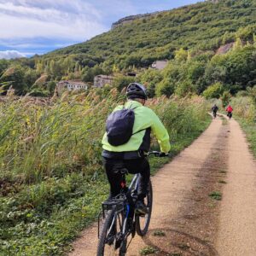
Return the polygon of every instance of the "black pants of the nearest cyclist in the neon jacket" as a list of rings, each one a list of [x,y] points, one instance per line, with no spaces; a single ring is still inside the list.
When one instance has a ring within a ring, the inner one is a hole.
[[[140,173],[139,187],[138,187],[138,200],[142,200],[148,189],[148,182],[150,177],[150,167],[147,158],[138,158],[132,160],[116,160],[103,158],[103,166],[108,176],[108,182],[110,184],[110,196],[116,196],[120,194],[122,174],[113,172],[113,167],[116,163],[122,161],[125,168],[131,174]]]

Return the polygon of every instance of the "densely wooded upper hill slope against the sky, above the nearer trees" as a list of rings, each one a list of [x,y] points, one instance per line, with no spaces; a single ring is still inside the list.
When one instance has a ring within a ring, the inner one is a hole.
[[[94,61],[117,63],[121,68],[147,66],[171,59],[178,48],[217,49],[222,38],[234,38],[239,28],[255,24],[256,2],[205,2],[137,19],[91,40],[45,55],[84,54]]]

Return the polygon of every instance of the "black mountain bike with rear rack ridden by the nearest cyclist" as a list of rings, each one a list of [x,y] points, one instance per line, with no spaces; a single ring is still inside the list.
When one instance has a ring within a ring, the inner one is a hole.
[[[149,152],[148,155],[163,156],[158,151]],[[167,156],[165,154],[164,156]],[[119,166],[122,174],[120,194],[113,199],[102,202],[102,212],[98,217],[98,247],[97,256],[104,255],[125,255],[128,243],[128,236],[131,239],[137,233],[138,236],[145,236],[150,223],[153,190],[149,180],[147,195],[144,199],[148,213],[137,213],[135,206],[137,202],[137,189],[140,174],[135,174],[131,180],[130,186],[127,188],[125,176],[128,170],[124,166]]]

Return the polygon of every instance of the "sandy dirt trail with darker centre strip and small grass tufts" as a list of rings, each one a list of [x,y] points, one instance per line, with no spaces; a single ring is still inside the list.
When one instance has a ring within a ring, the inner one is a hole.
[[[135,236],[127,255],[145,253],[145,247],[154,250],[150,255],[256,255],[255,172],[236,121],[214,119],[152,178],[148,235]],[[218,201],[221,191],[224,198]],[[96,246],[94,224],[73,243],[69,256],[96,255]]]

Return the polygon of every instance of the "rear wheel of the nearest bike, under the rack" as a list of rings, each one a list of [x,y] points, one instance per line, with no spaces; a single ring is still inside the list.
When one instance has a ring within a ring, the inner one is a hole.
[[[123,216],[123,212],[107,212],[98,241],[97,256],[125,255],[127,239],[122,237]]]

